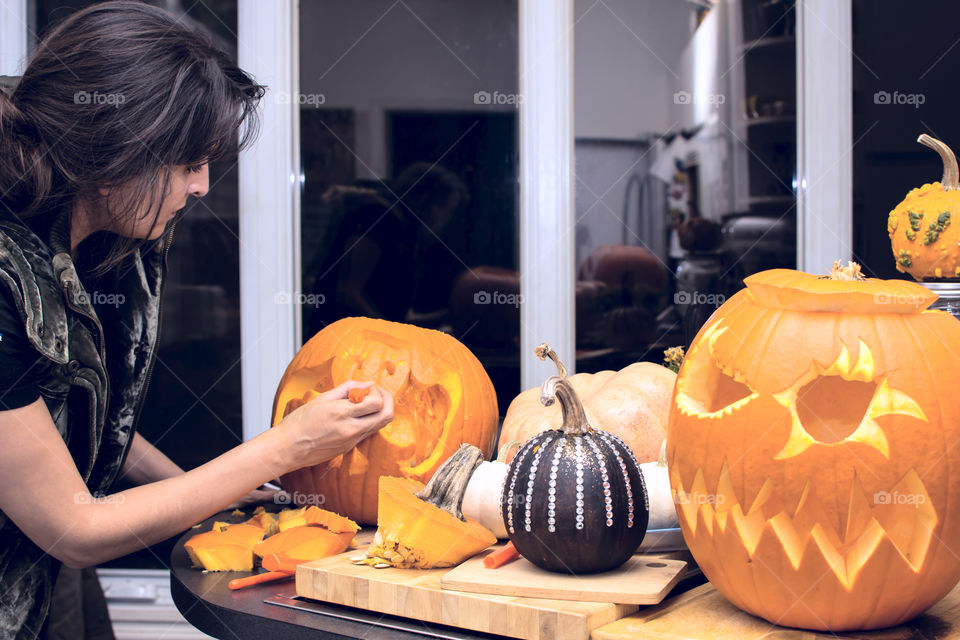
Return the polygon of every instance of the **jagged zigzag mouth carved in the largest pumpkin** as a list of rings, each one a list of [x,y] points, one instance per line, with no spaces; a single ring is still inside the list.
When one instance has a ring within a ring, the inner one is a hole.
[[[678,468],[677,462],[670,468]],[[691,548],[700,536],[715,538],[730,530],[732,535],[724,537],[738,540],[751,559],[758,549],[769,549],[771,542],[779,545],[797,571],[803,562],[819,556],[847,591],[853,590],[861,570],[885,543],[896,550],[900,562],[920,573],[939,521],[923,481],[912,469],[890,491],[872,498],[854,477],[842,532],[830,524],[812,481],[807,482],[797,508],[790,513],[769,479],[753,503],[744,508],[733,490],[726,462],[715,487],[707,486],[702,469],[689,487],[673,471],[670,476],[684,534],[692,537],[688,540]]]

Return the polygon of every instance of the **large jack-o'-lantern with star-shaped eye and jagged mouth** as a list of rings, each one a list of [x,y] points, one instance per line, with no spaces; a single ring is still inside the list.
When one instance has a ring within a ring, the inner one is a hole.
[[[746,284],[677,378],[684,539],[721,593],[776,624],[908,620],[960,578],[960,323],[856,265]]]

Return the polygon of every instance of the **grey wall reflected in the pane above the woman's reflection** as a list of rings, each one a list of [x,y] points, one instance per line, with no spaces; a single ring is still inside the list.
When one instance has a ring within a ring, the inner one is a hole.
[[[300,34],[300,91],[356,111],[360,177],[386,176],[385,110],[515,108],[474,94],[517,92],[516,0],[301,2]]]

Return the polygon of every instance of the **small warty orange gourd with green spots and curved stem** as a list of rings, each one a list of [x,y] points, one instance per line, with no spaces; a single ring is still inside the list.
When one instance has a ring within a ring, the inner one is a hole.
[[[940,182],[912,189],[887,217],[897,270],[916,280],[960,278],[960,180],[950,147],[927,134],[917,142],[943,160]],[[951,219],[952,218],[952,219]]]

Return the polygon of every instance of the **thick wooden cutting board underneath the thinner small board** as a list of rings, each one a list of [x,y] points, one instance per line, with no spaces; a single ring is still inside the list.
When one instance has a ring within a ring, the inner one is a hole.
[[[353,564],[350,558],[363,553],[371,536],[371,532],[357,536],[359,549],[298,566],[297,595],[426,623],[533,640],[588,640],[594,629],[637,611],[633,604],[442,589],[440,582],[450,569],[374,569]]]

